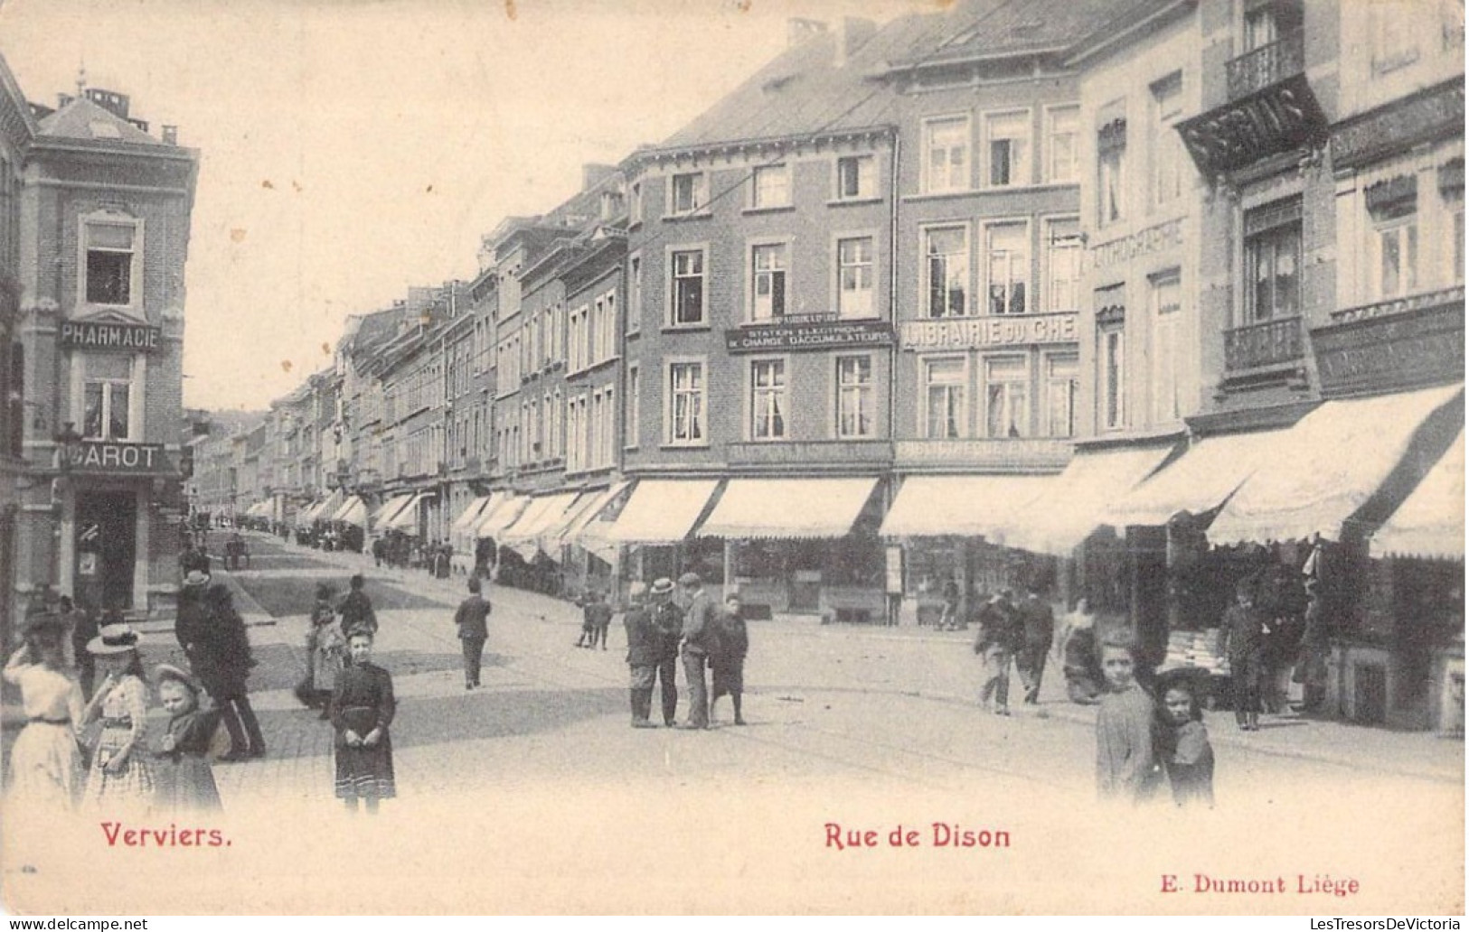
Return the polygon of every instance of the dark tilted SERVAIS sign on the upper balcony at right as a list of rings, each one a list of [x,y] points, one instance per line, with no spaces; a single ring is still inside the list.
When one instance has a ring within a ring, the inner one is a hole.
[[[1199,170],[1213,176],[1324,139],[1327,117],[1306,75],[1296,75],[1184,120],[1178,132]]]

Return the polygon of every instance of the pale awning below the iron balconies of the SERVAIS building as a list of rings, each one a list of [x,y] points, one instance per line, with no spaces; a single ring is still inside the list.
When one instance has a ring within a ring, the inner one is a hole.
[[[1103,524],[1168,524],[1181,511],[1213,511],[1234,495],[1288,430],[1205,437],[1183,456],[1133,489],[1102,515]]]

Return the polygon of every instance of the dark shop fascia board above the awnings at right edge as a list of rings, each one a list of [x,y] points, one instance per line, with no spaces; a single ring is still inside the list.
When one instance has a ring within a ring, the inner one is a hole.
[[[1438,385],[1465,377],[1463,304],[1360,317],[1310,332],[1324,396]]]

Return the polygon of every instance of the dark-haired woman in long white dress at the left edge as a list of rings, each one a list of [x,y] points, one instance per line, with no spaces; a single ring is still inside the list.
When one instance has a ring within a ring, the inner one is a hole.
[[[25,643],[10,655],[4,678],[21,687],[26,724],[10,751],[12,812],[69,809],[81,769],[76,729],[82,690],[63,671],[65,625],[54,615],[32,618]]]

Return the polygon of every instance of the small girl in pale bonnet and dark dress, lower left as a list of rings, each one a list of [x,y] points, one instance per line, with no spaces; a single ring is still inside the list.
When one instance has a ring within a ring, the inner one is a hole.
[[[163,813],[219,809],[219,787],[209,763],[219,713],[200,707],[200,685],[176,666],[160,663],[153,681],[169,713],[167,731],[154,751],[154,807]]]

